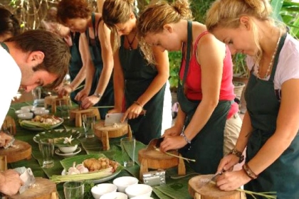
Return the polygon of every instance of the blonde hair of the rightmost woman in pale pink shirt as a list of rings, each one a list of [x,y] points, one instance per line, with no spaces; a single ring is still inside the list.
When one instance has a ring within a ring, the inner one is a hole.
[[[276,26],[271,18],[272,7],[268,0],[216,0],[206,14],[206,28],[211,33],[215,28],[238,28],[241,16],[257,18],[260,21],[268,21]],[[258,38],[258,27],[253,25],[254,42],[258,48],[254,60],[258,63],[263,56]],[[285,27],[282,28],[282,32]]]

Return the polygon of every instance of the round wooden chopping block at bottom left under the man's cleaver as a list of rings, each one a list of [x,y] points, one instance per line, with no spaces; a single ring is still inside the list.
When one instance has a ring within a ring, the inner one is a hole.
[[[32,188],[28,188],[22,194],[9,196],[9,199],[51,199],[56,193],[56,183],[46,178],[36,178],[36,183]]]

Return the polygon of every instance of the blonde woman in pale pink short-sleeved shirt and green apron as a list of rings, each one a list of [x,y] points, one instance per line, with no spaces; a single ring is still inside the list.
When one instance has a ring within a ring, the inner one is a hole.
[[[240,171],[219,176],[217,185],[298,198],[299,41],[270,16],[267,0],[216,1],[207,14],[209,31],[228,43],[232,53],[246,53],[251,70],[245,92],[248,111],[236,148],[221,160],[219,171],[238,163],[247,146],[246,163]]]

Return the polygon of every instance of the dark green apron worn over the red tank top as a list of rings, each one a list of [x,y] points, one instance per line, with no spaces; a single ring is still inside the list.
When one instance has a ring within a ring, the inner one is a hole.
[[[188,43],[187,43],[187,60],[184,70],[183,82],[179,81],[177,90],[177,99],[182,111],[187,114],[184,121],[184,127],[187,127],[191,121],[196,108],[200,101],[189,100],[184,95],[184,82],[189,69],[190,51],[192,45],[192,22],[188,21]],[[184,59],[184,55],[182,56]],[[181,69],[182,70],[182,65]],[[224,126],[226,124],[227,114],[231,108],[231,101],[219,101],[214,112],[211,114],[209,121],[192,139],[191,144],[187,144],[179,153],[186,158],[195,159],[196,162],[189,162],[194,171],[201,174],[216,173],[217,167],[223,157],[224,148]],[[184,129],[183,129],[184,131]]]

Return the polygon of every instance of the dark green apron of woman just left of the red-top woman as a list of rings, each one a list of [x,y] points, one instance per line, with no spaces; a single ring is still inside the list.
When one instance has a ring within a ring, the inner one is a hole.
[[[147,90],[158,72],[154,65],[149,65],[138,46],[137,49],[125,49],[124,37],[121,38],[120,64],[125,77],[125,107],[130,107],[134,101]],[[147,112],[136,119],[129,119],[128,124],[135,138],[143,144],[151,139],[159,138],[162,129],[162,114],[166,84],[143,107]]]

